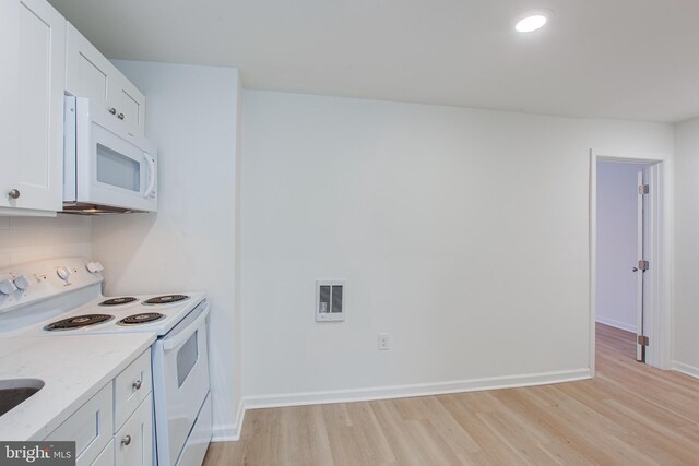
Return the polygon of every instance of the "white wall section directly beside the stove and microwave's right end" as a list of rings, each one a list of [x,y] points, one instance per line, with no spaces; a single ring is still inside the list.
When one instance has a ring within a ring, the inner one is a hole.
[[[235,435],[238,72],[115,63],[147,96],[146,133],[158,145],[158,212],[95,218],[94,256],[106,267],[108,294],[208,291],[215,435]]]

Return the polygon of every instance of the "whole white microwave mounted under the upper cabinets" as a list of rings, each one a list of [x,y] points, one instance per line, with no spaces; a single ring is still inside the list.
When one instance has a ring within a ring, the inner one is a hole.
[[[63,212],[157,211],[157,148],[87,98],[66,96]]]

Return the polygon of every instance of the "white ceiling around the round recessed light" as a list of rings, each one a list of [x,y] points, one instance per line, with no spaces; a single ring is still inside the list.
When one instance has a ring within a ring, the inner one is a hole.
[[[675,122],[699,115],[696,0],[49,0],[107,57],[246,88]],[[513,32],[529,9],[555,16]]]

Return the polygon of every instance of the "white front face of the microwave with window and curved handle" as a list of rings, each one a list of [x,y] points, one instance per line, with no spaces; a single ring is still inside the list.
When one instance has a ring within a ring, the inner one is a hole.
[[[104,108],[76,98],[76,202],[157,211],[153,143],[129,133]]]

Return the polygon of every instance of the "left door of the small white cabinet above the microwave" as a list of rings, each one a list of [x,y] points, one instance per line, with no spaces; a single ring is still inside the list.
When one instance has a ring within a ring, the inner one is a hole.
[[[66,91],[78,97],[88,97],[109,109],[109,84],[114,65],[70,23],[66,43]]]

